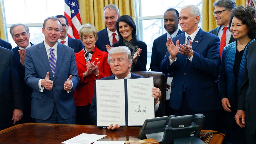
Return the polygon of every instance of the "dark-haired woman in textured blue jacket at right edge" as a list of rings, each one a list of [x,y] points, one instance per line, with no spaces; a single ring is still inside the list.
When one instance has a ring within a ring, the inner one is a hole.
[[[223,109],[226,111],[227,137],[232,144],[246,143],[245,131],[234,119],[242,85],[247,47],[255,41],[255,9],[238,6],[233,9],[229,29],[236,39],[224,47],[219,71],[219,92]]]

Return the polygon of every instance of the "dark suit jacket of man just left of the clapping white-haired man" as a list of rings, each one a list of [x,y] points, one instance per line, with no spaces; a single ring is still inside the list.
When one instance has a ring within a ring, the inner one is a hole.
[[[183,33],[179,29],[177,35]],[[152,54],[151,54],[151,62],[150,62],[150,68],[151,71],[161,71],[160,70],[160,63],[164,59],[165,53],[166,53],[166,42],[167,42],[167,33],[161,35],[157,39],[154,40],[153,46],[152,46]]]

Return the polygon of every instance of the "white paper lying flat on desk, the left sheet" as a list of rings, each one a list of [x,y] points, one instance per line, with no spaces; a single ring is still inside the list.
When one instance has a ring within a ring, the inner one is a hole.
[[[105,136],[106,135],[82,133],[78,136],[75,136],[69,140],[62,142],[62,144],[91,144]]]

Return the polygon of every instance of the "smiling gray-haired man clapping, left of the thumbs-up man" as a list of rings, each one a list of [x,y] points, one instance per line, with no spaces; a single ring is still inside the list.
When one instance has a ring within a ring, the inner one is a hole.
[[[20,121],[21,123],[28,123],[32,122],[30,118],[30,110],[31,110],[31,94],[32,89],[26,84],[24,77],[25,77],[25,55],[26,49],[33,45],[29,42],[29,29],[28,26],[18,23],[14,24],[10,27],[10,33],[12,36],[13,41],[17,44],[17,47],[13,48],[12,51],[16,57],[17,69],[20,74],[20,87],[23,89],[23,98],[24,98],[24,109],[23,109],[23,118]]]

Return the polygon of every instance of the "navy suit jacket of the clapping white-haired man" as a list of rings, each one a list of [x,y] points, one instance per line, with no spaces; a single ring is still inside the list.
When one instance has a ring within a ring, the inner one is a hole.
[[[172,39],[176,45],[185,43],[185,33]],[[161,62],[163,73],[173,72],[169,105],[180,109],[183,84],[186,85],[186,96],[190,109],[194,112],[211,111],[219,108],[218,92],[215,87],[215,74],[219,70],[220,40],[217,36],[204,32],[201,28],[192,43],[193,60],[185,61],[185,56],[177,54],[177,60],[169,65],[169,53]]]

